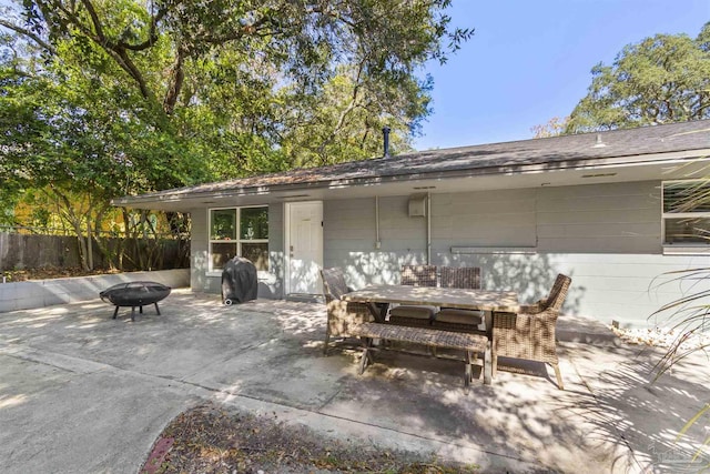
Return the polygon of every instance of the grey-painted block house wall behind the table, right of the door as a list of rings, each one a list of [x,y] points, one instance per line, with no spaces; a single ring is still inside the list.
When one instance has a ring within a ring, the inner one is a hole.
[[[710,253],[663,254],[660,183],[432,194],[432,263],[479,266],[483,285],[516,291],[523,302],[547,294],[557,273],[572,278],[565,312],[646,326],[670,314],[663,304],[710,291],[710,279],[678,282],[678,272],[710,268]],[[426,220],[407,215],[408,196],[325,202],[324,262],[353,288],[398,283],[403,264],[426,262]]]

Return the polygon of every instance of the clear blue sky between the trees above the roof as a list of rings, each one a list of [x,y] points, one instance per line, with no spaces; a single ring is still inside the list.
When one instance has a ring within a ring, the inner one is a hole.
[[[427,63],[434,112],[416,150],[527,140],[587,94],[591,68],[657,33],[696,38],[710,0],[454,0],[452,26],[475,34]]]

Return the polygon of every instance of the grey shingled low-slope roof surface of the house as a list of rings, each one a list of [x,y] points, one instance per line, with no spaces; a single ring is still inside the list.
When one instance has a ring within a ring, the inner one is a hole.
[[[699,120],[628,130],[427,150],[124,196],[114,200],[113,203],[132,205],[220,192],[312,189],[333,186],[337,183],[357,185],[403,179],[504,174],[535,169],[562,170],[584,164],[638,163],[679,152],[687,158],[698,158],[708,150],[710,150],[710,120]]]

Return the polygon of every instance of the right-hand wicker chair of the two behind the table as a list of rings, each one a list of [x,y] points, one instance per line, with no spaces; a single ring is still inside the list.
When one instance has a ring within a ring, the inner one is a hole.
[[[480,269],[477,266],[452,268],[442,266],[442,288],[464,288],[480,290]],[[483,333],[479,324],[486,319],[486,329],[490,329],[490,313],[483,311],[443,307],[434,315],[432,326],[457,332]]]

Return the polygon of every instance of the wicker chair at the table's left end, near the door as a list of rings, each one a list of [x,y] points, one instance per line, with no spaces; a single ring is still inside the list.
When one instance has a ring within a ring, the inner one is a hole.
[[[373,321],[374,317],[366,304],[341,301],[342,295],[352,291],[345,284],[345,276],[341,269],[323,269],[321,276],[328,314],[323,347],[323,353],[327,355],[331,337],[351,337],[351,327],[365,321]]]

